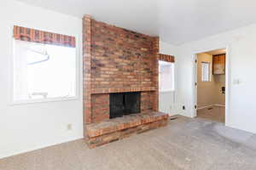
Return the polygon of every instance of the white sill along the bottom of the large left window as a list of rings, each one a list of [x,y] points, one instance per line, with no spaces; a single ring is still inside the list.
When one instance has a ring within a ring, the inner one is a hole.
[[[10,105],[30,105],[30,104],[61,102],[61,101],[77,100],[77,99],[79,99],[77,96],[67,97],[67,98],[27,99],[27,100],[20,100],[20,101],[12,101],[10,102]]]

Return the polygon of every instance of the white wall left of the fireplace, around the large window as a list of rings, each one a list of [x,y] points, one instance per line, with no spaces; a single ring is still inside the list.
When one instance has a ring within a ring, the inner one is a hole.
[[[81,95],[69,101],[9,105],[13,26],[77,37],[80,61],[82,20],[13,0],[1,2],[0,20],[0,158],[82,138]],[[82,72],[81,64],[78,69]],[[79,90],[81,92],[81,78]],[[73,130],[67,131],[68,123],[73,124]]]

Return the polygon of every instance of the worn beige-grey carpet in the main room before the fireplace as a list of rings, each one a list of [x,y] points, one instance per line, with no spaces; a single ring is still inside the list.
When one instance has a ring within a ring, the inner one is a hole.
[[[0,160],[1,170],[255,170],[256,135],[177,116],[167,127],[90,150],[84,140]]]

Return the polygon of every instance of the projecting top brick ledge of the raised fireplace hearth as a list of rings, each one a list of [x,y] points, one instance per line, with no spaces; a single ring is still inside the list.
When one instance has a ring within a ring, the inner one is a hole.
[[[137,127],[148,122],[157,122],[168,119],[169,115],[159,111],[148,111],[147,113],[131,114],[128,116],[108,119],[86,125],[87,135],[94,138],[107,133],[114,133],[119,130]]]

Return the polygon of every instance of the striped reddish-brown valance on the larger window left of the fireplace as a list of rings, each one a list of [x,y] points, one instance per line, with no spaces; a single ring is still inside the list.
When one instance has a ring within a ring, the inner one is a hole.
[[[60,45],[70,48],[76,47],[75,37],[51,33],[48,31],[38,31],[21,26],[14,27],[14,37],[16,40],[26,42],[40,42],[52,45]]]

